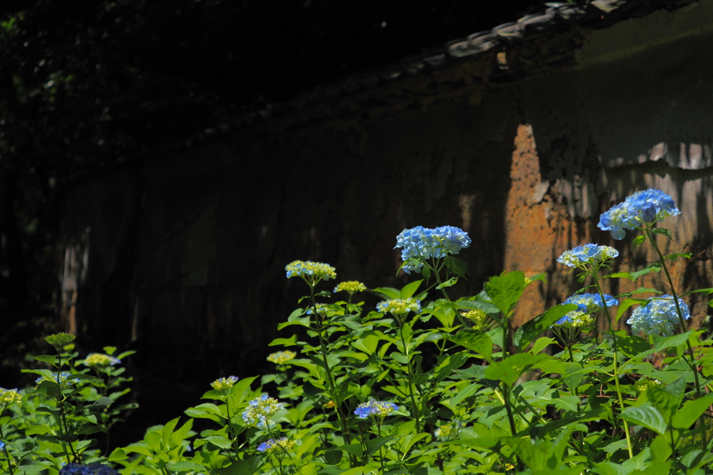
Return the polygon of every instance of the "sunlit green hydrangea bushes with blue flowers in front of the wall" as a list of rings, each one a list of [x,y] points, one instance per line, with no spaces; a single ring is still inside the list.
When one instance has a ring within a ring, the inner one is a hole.
[[[713,340],[687,328],[659,226],[679,214],[649,189],[602,214],[615,239],[625,229],[660,259],[610,272],[618,251],[583,244],[558,262],[582,288],[532,315],[513,313],[543,275],[493,276],[476,296],[448,298],[468,276],[453,257],[471,244],[461,229],[405,229],[396,237],[404,288],[337,278],[327,263],[294,261],[309,295],[279,329],[261,377],[217,377],[200,404],[142,441],[108,451],[111,426],[128,406],[116,349],[78,359],[73,337],[50,335],[56,355],[36,357],[36,387],[0,389],[0,471],[14,474],[713,474]],[[662,272],[652,288],[611,296],[607,279]],[[366,308],[359,295],[382,298]],[[346,301],[340,295],[348,296]],[[696,292],[712,293],[713,289]],[[653,295],[653,297],[652,297]],[[304,302],[304,303],[303,303]],[[630,312],[631,331],[617,330]],[[599,329],[605,328],[604,333]],[[200,433],[195,419],[205,419]],[[104,437],[102,437],[102,435]]]

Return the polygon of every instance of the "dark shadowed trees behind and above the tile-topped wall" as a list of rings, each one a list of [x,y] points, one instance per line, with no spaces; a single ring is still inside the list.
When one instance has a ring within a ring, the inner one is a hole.
[[[43,335],[58,330],[53,243],[63,190],[76,179],[543,8],[538,0],[3,2],[0,385],[21,385],[19,365],[31,365],[32,353],[47,350]]]

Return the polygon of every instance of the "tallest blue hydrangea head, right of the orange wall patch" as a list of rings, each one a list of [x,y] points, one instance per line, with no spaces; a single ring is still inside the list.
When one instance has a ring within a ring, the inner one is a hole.
[[[611,231],[614,239],[624,239],[625,229],[637,229],[644,223],[660,221],[681,212],[669,195],[660,189],[649,188],[627,197],[624,202],[611,207],[599,218],[597,226]]]

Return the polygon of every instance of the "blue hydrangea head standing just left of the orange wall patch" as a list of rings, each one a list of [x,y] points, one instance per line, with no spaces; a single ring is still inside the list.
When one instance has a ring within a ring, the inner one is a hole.
[[[463,229],[454,226],[439,226],[436,229],[416,226],[411,229],[404,229],[399,236],[396,236],[396,248],[404,248],[401,251],[401,260],[406,262],[409,259],[440,259],[448,254],[458,254],[461,249],[471,245],[471,238]],[[420,272],[424,263],[406,263],[404,271]]]

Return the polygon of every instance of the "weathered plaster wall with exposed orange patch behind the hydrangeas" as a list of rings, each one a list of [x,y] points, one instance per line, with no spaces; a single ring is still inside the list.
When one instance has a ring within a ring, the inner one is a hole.
[[[653,259],[596,227],[645,187],[683,212],[666,223],[674,242],[661,241],[694,254],[675,279],[710,286],[712,26],[703,0],[565,31],[88,179],[68,199],[59,244],[67,325],[135,345],[146,365],[178,358],[173,376],[186,381],[252,374],[305,291],[284,278],[286,263],[401,286],[414,277],[396,276],[392,247],[419,224],[471,234],[461,295],[503,270],[547,272],[521,322],[577,288],[555,263],[566,249],[615,245],[621,270]],[[508,72],[508,58],[538,55],[530,75]],[[691,303],[700,323],[706,308]]]

